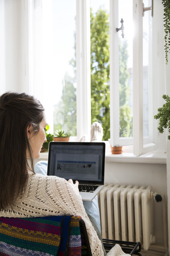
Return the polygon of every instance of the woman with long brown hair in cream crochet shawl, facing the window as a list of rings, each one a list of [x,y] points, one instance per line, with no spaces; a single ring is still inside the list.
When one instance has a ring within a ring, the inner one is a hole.
[[[73,184],[72,180],[33,170],[33,158],[39,157],[46,141],[46,125],[44,108],[34,97],[14,92],[0,97],[0,217],[80,215],[86,223],[92,255],[104,255],[83,207],[79,182]],[[115,250],[117,247],[108,255],[121,255]]]

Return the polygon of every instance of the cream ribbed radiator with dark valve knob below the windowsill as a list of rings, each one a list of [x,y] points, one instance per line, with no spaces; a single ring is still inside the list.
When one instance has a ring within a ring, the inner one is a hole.
[[[162,195],[151,187],[105,185],[98,194],[101,235],[106,239],[141,242],[148,250],[155,242],[153,201]]]

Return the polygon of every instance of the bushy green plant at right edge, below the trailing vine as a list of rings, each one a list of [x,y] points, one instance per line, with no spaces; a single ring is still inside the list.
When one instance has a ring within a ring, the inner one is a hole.
[[[159,119],[158,131],[160,133],[163,133],[166,128],[168,128],[170,133],[170,97],[164,94],[163,99],[166,103],[162,108],[158,108],[158,114],[154,118]],[[170,140],[170,135],[168,135],[168,140]]]

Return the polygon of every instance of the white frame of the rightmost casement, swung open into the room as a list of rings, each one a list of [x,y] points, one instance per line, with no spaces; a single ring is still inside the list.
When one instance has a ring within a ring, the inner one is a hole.
[[[133,154],[140,156],[156,149],[152,133],[152,79],[149,78],[149,137],[143,137],[143,2],[133,0]],[[150,11],[151,15],[151,11]],[[151,54],[151,41],[149,54]],[[149,58],[151,59],[151,57]],[[152,74],[152,65],[149,65]],[[150,76],[149,76],[150,77]]]

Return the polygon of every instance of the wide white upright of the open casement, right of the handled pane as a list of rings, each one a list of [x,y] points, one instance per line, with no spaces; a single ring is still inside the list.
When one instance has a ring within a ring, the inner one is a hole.
[[[133,153],[143,150],[143,17],[142,2],[133,1]]]

